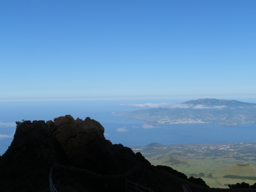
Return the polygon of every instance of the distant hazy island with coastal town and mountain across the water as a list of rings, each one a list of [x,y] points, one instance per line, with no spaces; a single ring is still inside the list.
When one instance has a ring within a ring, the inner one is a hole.
[[[215,123],[239,125],[256,122],[256,104],[225,99],[197,99],[177,103],[159,103],[157,108],[114,114],[145,120],[145,125],[179,123]],[[165,104],[165,105],[164,105]],[[132,104],[130,104],[132,105]],[[136,106],[135,104],[133,104]],[[141,104],[142,105],[142,104]]]

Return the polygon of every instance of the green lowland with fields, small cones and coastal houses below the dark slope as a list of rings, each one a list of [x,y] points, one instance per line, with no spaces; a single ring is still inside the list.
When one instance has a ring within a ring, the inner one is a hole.
[[[240,172],[232,172],[232,168],[229,168],[229,171],[231,171],[226,173],[222,169],[234,164],[256,166],[256,142],[194,143],[168,146],[152,143],[146,147],[139,147],[139,149],[132,150],[140,152],[153,165],[170,166],[188,177],[190,177],[189,174],[191,173],[197,174],[196,176],[193,175],[193,177],[200,177],[198,174],[203,172],[205,176],[201,178],[210,187],[228,188],[227,186],[223,187],[224,184],[245,182],[253,185],[256,183],[254,180],[223,178],[224,175],[228,174],[256,177],[256,172],[243,172],[244,167],[241,167],[242,171]],[[209,174],[212,174],[213,178],[207,177]]]

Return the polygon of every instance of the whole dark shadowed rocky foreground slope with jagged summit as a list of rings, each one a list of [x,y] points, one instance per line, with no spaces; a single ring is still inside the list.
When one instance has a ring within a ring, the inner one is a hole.
[[[17,122],[13,141],[0,157],[0,191],[48,192],[51,170],[59,192],[122,192],[126,179],[154,192],[171,192],[180,184],[192,192],[223,191],[171,167],[151,165],[140,153],[113,145],[103,133],[89,117]]]

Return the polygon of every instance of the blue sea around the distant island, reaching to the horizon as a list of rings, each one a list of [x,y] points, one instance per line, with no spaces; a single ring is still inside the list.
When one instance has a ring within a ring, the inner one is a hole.
[[[90,117],[105,128],[105,137],[112,143],[124,146],[145,146],[152,142],[165,145],[207,142],[256,142],[256,124],[225,126],[217,124],[170,124],[143,128],[145,121],[115,117],[111,113],[138,110],[120,103],[145,103],[147,101],[40,101],[0,102],[0,122],[13,123],[25,120],[53,120],[71,115],[74,119]],[[152,101],[151,101],[152,102]],[[162,102],[162,101],[154,101]],[[141,109],[141,108],[139,108]],[[121,131],[121,132],[120,132]],[[11,135],[15,126],[0,124],[0,135]],[[12,138],[0,139],[0,155],[8,148]]]

